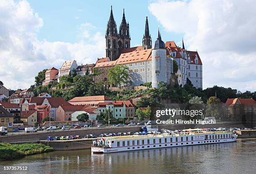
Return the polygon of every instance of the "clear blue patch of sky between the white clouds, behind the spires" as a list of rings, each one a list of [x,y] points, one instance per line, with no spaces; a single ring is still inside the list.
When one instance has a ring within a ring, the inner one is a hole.
[[[38,39],[50,42],[78,42],[77,28],[81,23],[90,22],[96,30],[105,34],[110,16],[110,6],[113,6],[113,15],[119,27],[125,8],[125,18],[130,24],[131,46],[140,45],[144,33],[145,20],[148,16],[149,29],[152,41],[157,37],[158,26],[161,29],[163,40],[174,40],[181,43],[182,33],[166,32],[161,23],[148,10],[152,1],[147,0],[28,0],[31,7],[44,20],[44,26],[38,32]],[[159,12],[161,9],[159,9]],[[105,49],[105,48],[101,48]]]

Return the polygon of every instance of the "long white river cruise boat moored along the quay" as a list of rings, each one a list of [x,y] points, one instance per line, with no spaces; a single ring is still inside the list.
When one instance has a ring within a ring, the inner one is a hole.
[[[93,142],[92,153],[111,153],[141,149],[157,149],[177,146],[191,146],[235,142],[237,134],[231,131],[210,132],[207,129],[185,129],[174,132],[161,130],[162,134],[127,135],[117,137],[102,137]]]

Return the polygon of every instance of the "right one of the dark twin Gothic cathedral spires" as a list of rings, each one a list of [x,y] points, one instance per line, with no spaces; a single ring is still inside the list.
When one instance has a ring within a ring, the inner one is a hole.
[[[126,23],[125,14],[123,9],[123,19],[119,27],[119,40],[118,40],[118,49],[130,48],[130,34],[129,34],[129,22]]]

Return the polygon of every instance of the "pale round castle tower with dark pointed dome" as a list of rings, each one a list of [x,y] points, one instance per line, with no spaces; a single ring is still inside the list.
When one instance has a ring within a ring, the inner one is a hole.
[[[159,82],[167,82],[167,71],[165,44],[158,30],[158,37],[152,49],[152,87],[158,88]]]

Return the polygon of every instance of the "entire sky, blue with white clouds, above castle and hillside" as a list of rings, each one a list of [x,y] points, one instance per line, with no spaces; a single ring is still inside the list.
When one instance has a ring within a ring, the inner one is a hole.
[[[1,0],[0,81],[25,89],[43,69],[64,61],[94,63],[105,57],[105,31],[113,6],[119,27],[123,8],[131,47],[141,45],[148,16],[152,41],[197,50],[203,88],[256,91],[256,7],[253,0]]]

